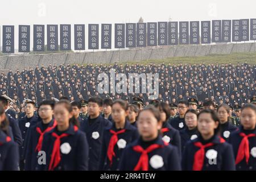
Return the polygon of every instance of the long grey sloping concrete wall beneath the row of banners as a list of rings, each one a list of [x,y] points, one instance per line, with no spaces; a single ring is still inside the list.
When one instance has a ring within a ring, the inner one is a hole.
[[[204,56],[209,54],[229,54],[234,52],[254,52],[254,43],[218,44],[218,45],[188,45],[168,46],[159,48],[144,48],[122,51],[97,51],[75,53],[53,53],[46,55],[11,55],[0,56],[0,70],[35,68],[37,65],[49,64],[86,64],[115,63],[125,61],[141,61],[165,59],[167,57]]]

